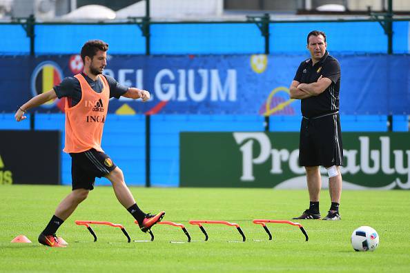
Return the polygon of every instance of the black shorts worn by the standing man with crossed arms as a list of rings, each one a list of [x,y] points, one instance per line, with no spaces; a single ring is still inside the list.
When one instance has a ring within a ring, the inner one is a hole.
[[[302,118],[300,126],[299,164],[301,166],[343,165],[342,132],[339,114]]]

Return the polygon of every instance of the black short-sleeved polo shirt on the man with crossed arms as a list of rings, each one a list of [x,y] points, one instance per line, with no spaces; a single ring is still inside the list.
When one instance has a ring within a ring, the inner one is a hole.
[[[293,80],[300,83],[314,83],[320,75],[332,83],[322,94],[301,100],[302,115],[307,118],[331,114],[339,110],[340,65],[338,60],[325,52],[322,59],[312,65],[312,59],[300,63]]]

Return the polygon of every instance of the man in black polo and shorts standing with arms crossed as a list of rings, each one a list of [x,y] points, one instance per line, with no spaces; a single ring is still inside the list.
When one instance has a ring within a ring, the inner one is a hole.
[[[331,208],[323,220],[340,220],[342,193],[342,134],[339,117],[340,65],[326,50],[326,34],[314,30],[308,34],[311,58],[300,63],[291,84],[291,98],[301,100],[299,163],[306,170],[310,205],[293,219],[320,219],[319,197],[322,179],[319,166],[329,174]]]

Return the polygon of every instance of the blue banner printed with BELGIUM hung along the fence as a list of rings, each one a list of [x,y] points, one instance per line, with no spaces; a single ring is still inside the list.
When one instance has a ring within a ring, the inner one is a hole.
[[[410,56],[343,55],[342,114],[409,114]],[[122,85],[149,90],[150,101],[112,99],[119,114],[300,114],[289,85],[306,55],[126,56],[109,55],[104,74]],[[50,90],[81,72],[79,55],[0,57],[1,112]],[[64,112],[64,100],[39,112]]]

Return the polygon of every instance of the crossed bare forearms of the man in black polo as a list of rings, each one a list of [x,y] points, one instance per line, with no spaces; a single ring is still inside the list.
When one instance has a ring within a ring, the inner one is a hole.
[[[291,99],[306,99],[312,96],[322,94],[326,88],[331,85],[332,81],[329,78],[319,77],[315,83],[300,83],[299,81],[292,81]]]

